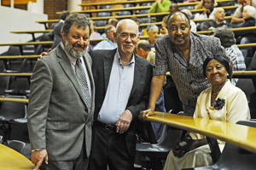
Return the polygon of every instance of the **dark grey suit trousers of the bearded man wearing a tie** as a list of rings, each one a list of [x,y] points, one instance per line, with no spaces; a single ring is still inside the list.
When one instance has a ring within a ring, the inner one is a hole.
[[[48,164],[45,164],[44,161],[40,167],[40,170],[87,170],[88,169],[89,159],[85,153],[85,143],[79,157],[71,161],[48,161]]]

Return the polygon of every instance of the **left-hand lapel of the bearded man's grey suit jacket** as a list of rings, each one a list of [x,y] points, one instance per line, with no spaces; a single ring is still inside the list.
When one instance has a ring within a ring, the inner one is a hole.
[[[70,60],[68,59],[67,54],[61,48],[61,45],[59,45],[57,47],[56,53],[57,53],[57,56],[59,58],[59,63],[61,65],[62,70],[66,73],[69,80],[73,83],[74,88],[76,88],[77,92],[79,93],[80,98],[84,102],[84,95],[83,95],[82,90],[79,86],[78,79],[74,74],[73,68],[70,64]],[[84,105],[85,105],[85,102],[84,102]]]

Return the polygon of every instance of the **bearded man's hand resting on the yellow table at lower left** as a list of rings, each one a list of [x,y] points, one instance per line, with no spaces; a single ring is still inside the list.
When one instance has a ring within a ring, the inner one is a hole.
[[[36,164],[36,167],[34,170],[38,170],[38,168],[42,165],[42,162],[44,161],[46,164],[48,164],[48,154],[47,151],[44,150],[35,150],[32,152],[31,161],[33,164]]]

